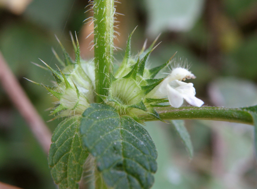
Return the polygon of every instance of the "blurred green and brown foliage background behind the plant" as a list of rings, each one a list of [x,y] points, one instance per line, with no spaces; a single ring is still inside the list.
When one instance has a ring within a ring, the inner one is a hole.
[[[188,60],[197,78],[192,81],[205,105],[243,107],[257,104],[257,14],[253,0],[120,1],[117,12],[121,36],[115,45],[124,49],[128,34],[136,54],[144,39],[149,44],[162,32],[163,41],[151,54],[150,66],[176,58]],[[178,3],[180,2],[180,3]],[[187,4],[187,3],[186,3]],[[54,35],[73,54],[69,31],[76,31],[82,55],[89,51],[88,24],[82,21],[87,1],[34,0],[24,13],[0,9],[0,50],[27,95],[45,121],[56,99],[47,90],[23,77],[50,84],[51,73],[34,66],[43,59],[54,67],[51,51],[60,52]],[[193,10],[190,9],[193,7]],[[174,24],[175,23],[175,24]],[[183,24],[184,23],[184,24]],[[89,37],[90,38],[90,37]],[[124,51],[115,52],[119,61]],[[53,131],[62,119],[47,123]],[[252,127],[214,121],[186,121],[195,152],[189,160],[172,125],[149,122],[145,127],[158,150],[158,171],[153,188],[256,188],[257,167]],[[0,181],[22,188],[55,188],[47,156],[29,128],[0,88]],[[233,182],[232,182],[233,181]]]

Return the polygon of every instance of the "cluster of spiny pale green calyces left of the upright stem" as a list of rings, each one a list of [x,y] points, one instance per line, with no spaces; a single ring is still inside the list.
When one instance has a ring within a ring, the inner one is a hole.
[[[61,70],[58,67],[58,70],[54,70],[42,61],[52,72],[56,80],[54,87],[33,82],[44,86],[52,95],[58,98],[59,101],[57,103],[59,105],[54,108],[52,114],[58,113],[59,117],[82,114],[85,109],[94,102],[95,98],[94,62],[82,60],[80,57],[78,39],[77,46],[75,45],[74,39],[71,39],[76,52],[74,61],[72,61],[58,39],[63,51],[64,61],[61,61],[55,51],[54,54],[64,68]]]

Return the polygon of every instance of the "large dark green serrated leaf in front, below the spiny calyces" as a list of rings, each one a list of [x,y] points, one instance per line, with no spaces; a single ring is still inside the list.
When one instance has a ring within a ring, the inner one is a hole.
[[[112,106],[91,104],[82,114],[81,134],[109,187],[152,186],[157,151],[148,132],[134,119],[120,117]]]

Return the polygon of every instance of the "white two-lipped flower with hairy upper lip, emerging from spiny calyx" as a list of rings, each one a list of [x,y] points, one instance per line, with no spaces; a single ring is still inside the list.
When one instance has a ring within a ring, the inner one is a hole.
[[[190,105],[200,107],[204,102],[195,97],[193,83],[185,83],[181,80],[195,79],[195,75],[185,68],[175,68],[170,75],[164,79],[150,95],[153,98],[164,98],[168,96],[172,107],[182,106],[183,99]]]

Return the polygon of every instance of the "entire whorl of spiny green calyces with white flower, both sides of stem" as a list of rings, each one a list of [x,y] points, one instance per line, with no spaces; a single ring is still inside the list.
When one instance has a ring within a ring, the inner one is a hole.
[[[81,59],[78,39],[77,45],[75,45],[72,38],[76,52],[74,61],[58,40],[63,50],[64,62],[55,52],[54,54],[64,68],[54,70],[42,61],[52,72],[56,82],[54,87],[36,83],[47,88],[59,99],[59,105],[52,114],[58,113],[59,116],[81,115],[91,103],[95,102],[96,95],[102,98],[103,103],[117,109],[120,116],[129,115],[139,122],[140,115],[143,114],[150,114],[160,119],[155,107],[173,106],[178,108],[183,104],[183,99],[194,106],[200,107],[203,104],[203,101],[195,97],[193,84],[182,82],[186,79],[195,79],[194,74],[186,68],[175,67],[166,78],[155,77],[170,64],[171,59],[158,67],[146,68],[148,57],[157,46],[154,46],[157,39],[148,49],[145,50],[143,47],[137,56],[130,55],[133,32],[128,38],[125,56],[120,67],[115,73],[109,73],[109,88],[106,89],[108,90],[106,95],[95,92],[95,82],[97,82],[95,65],[93,61]],[[102,77],[104,76],[102,74]]]

